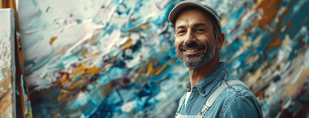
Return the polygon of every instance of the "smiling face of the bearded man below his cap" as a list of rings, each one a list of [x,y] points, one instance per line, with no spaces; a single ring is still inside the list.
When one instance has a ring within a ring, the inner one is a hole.
[[[199,67],[214,58],[216,46],[210,17],[203,10],[188,9],[176,18],[176,54],[188,68]]]

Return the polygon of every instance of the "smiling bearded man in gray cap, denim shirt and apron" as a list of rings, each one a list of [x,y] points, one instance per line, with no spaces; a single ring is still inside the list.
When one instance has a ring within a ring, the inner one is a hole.
[[[224,34],[216,9],[185,0],[168,19],[175,28],[177,57],[190,75],[176,118],[263,118],[254,94],[219,62]]]

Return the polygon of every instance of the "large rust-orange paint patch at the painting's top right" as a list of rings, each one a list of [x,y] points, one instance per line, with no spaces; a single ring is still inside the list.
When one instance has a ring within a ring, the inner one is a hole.
[[[262,8],[264,15],[256,24],[258,24],[259,27],[263,27],[271,23],[271,21],[273,21],[276,17],[281,2],[282,0],[259,0],[254,9]]]

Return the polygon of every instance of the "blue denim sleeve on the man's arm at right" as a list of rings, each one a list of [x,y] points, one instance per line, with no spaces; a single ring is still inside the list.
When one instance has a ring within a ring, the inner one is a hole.
[[[263,118],[259,103],[249,95],[235,95],[224,105],[219,118]]]

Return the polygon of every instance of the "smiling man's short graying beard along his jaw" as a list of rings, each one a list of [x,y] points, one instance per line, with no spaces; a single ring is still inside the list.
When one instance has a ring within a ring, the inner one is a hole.
[[[178,59],[180,59],[180,61],[185,65],[185,67],[196,68],[196,67],[199,67],[199,66],[207,63],[211,59],[213,59],[214,56],[215,56],[215,51],[216,51],[216,47],[215,47],[215,45],[213,45],[213,47],[210,47],[210,48],[207,47],[206,53],[202,53],[200,56],[199,55],[186,56],[189,59],[185,59],[184,54],[181,53],[177,49],[176,49],[176,54],[177,54]],[[199,56],[198,59],[193,59],[193,57],[197,57],[197,56]]]

